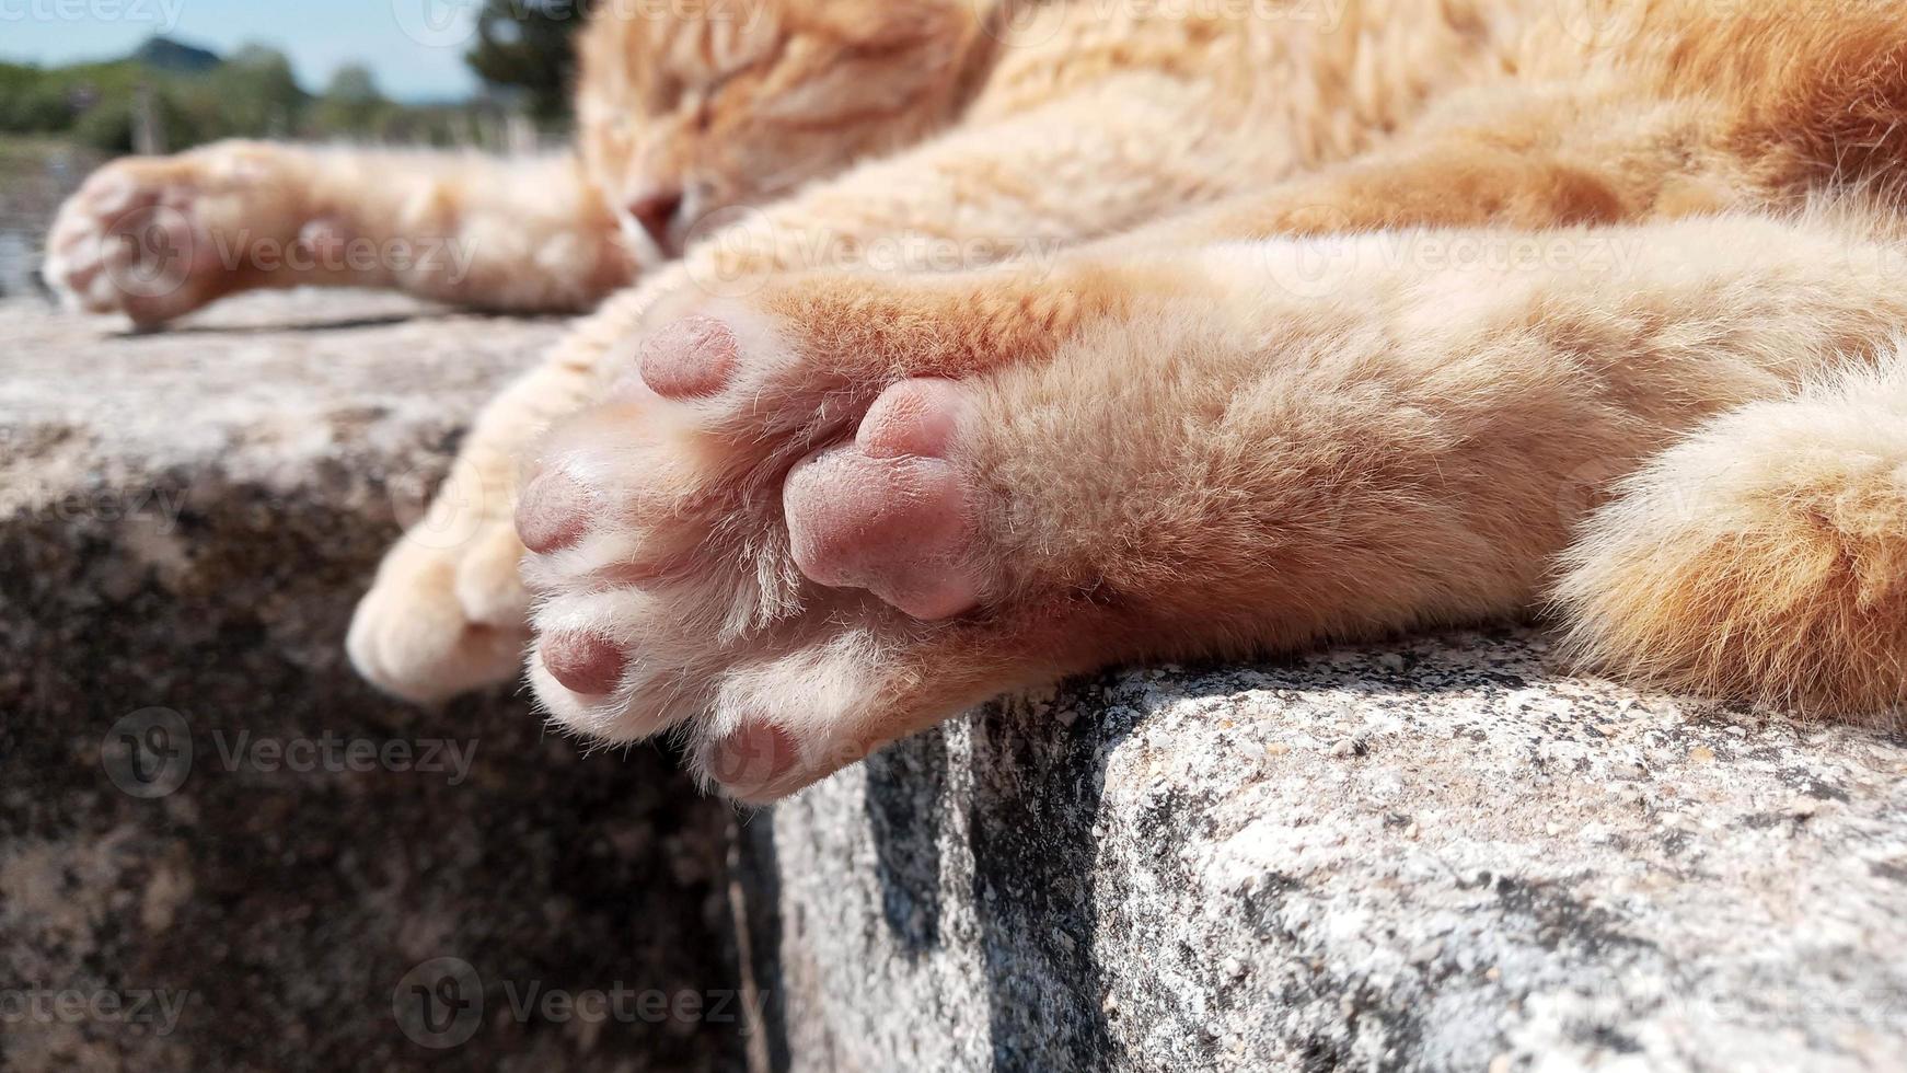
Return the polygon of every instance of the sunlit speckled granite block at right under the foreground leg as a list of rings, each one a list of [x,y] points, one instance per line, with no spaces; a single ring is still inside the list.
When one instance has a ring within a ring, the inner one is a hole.
[[[757,823],[797,1069],[1907,1067],[1907,741],[1528,631],[1108,677]]]

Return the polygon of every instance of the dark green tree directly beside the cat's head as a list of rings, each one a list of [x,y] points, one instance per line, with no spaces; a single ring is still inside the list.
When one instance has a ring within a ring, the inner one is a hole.
[[[576,72],[570,38],[582,23],[580,0],[484,0],[463,61],[488,86],[523,93],[538,120],[559,122]]]

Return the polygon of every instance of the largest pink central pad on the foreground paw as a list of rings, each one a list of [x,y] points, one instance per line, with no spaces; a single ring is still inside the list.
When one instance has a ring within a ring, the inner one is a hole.
[[[948,457],[965,410],[954,381],[902,381],[868,410],[852,444],[797,465],[782,488],[795,566],[919,619],[974,608],[973,503]]]

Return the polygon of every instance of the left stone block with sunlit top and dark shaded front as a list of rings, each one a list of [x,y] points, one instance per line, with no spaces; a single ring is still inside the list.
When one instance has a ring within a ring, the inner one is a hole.
[[[0,1067],[736,1067],[727,812],[656,751],[343,659],[400,516],[557,332],[0,305]]]

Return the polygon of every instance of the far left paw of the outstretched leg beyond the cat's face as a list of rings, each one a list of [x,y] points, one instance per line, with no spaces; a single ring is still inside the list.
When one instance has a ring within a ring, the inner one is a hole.
[[[261,261],[284,257],[299,227],[294,175],[273,147],[132,156],[95,172],[59,208],[42,274],[69,309],[153,326],[261,286]]]

